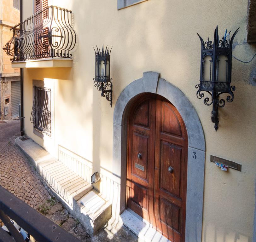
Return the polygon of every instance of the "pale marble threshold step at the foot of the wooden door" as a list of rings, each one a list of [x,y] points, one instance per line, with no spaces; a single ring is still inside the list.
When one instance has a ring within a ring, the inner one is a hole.
[[[139,239],[145,242],[172,242],[156,231],[150,223],[143,222],[142,218],[138,216],[135,216],[131,210],[125,210],[121,214],[124,225],[135,233]]]

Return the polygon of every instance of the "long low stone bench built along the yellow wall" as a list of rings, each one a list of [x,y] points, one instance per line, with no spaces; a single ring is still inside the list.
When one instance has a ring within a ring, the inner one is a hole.
[[[93,186],[85,178],[72,169],[72,162],[54,158],[44,148],[27,136],[16,138],[16,145],[25,154],[36,168],[51,191],[59,198],[66,209],[86,228],[87,232],[94,235],[111,218],[111,203],[106,203],[96,212],[92,213],[80,203],[85,194],[93,190]],[[87,176],[89,177],[89,176]],[[100,196],[100,194],[98,194]]]

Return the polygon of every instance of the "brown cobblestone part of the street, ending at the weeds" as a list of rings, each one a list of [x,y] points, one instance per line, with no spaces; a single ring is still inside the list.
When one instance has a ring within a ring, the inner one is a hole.
[[[20,136],[20,121],[4,122],[0,123],[0,186],[37,209],[51,196],[38,173],[15,146],[15,138]]]

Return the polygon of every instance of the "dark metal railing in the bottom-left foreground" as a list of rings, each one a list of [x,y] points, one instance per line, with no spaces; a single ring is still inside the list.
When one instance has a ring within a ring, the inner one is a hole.
[[[81,242],[0,186],[0,219],[9,230],[8,233],[0,227],[0,242],[24,242],[25,239],[15,228],[10,218],[38,242]]]

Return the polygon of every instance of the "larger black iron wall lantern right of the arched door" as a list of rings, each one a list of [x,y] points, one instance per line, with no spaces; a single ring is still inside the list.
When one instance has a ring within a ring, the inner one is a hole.
[[[239,29],[239,28],[238,28]],[[225,100],[219,99],[219,96],[223,93],[227,93],[227,102],[232,102],[234,99],[235,86],[231,86],[231,64],[232,64],[232,43],[238,29],[235,31],[230,39],[230,32],[219,39],[218,26],[214,31],[213,43],[209,38],[206,42],[201,38],[201,72],[200,72],[200,84],[195,87],[197,90],[197,97],[203,98],[205,91],[211,95],[211,101],[209,97],[204,98],[204,104],[207,106],[212,105],[212,117],[211,120],[215,124],[214,128],[218,130],[218,107],[224,107]]]

